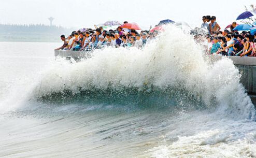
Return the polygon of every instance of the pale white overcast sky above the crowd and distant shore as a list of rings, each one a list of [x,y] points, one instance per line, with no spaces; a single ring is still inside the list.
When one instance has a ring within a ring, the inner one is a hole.
[[[136,22],[146,29],[160,20],[186,21],[200,26],[202,16],[216,16],[222,28],[235,21],[245,5],[256,0],[0,0],[0,23],[53,24],[92,27],[108,20]]]

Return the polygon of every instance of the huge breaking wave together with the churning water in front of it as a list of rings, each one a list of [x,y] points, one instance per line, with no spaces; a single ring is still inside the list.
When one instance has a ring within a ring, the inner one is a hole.
[[[2,102],[0,157],[255,157],[255,109],[229,59],[168,25],[143,50],[58,59]]]

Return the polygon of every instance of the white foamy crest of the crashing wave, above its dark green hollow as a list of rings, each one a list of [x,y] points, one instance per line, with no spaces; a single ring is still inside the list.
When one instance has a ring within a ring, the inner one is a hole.
[[[40,93],[35,94],[64,89],[77,93],[79,88],[106,89],[110,84],[113,89],[142,88],[145,83],[162,89],[182,85],[192,94],[201,95],[209,107],[217,102],[225,113],[235,113],[234,118],[254,117],[251,100],[231,60],[208,65],[191,36],[172,25],[165,30],[144,50],[107,48],[96,50],[93,58],[82,62],[56,62],[43,75]]]

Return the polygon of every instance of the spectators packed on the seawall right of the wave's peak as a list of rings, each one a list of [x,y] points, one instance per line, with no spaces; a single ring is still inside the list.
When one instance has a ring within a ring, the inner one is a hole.
[[[234,30],[236,22],[230,25],[230,30],[220,31],[215,16],[203,16],[201,28],[208,30],[207,53],[227,56],[256,56],[256,34]]]

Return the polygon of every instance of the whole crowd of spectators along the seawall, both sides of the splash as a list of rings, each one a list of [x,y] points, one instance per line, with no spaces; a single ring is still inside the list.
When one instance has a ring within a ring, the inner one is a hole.
[[[243,31],[239,33],[234,30],[236,22],[230,26],[230,30],[220,31],[221,27],[216,22],[215,16],[203,16],[201,28],[207,33],[194,36],[195,40],[204,45],[209,55],[227,56],[256,56],[256,34]],[[128,23],[127,21],[124,22]],[[136,47],[143,48],[147,43],[158,35],[158,31],[129,30],[117,27],[117,30],[103,30],[98,27],[73,31],[67,38],[61,35],[63,46],[55,50],[93,51],[104,47]]]

